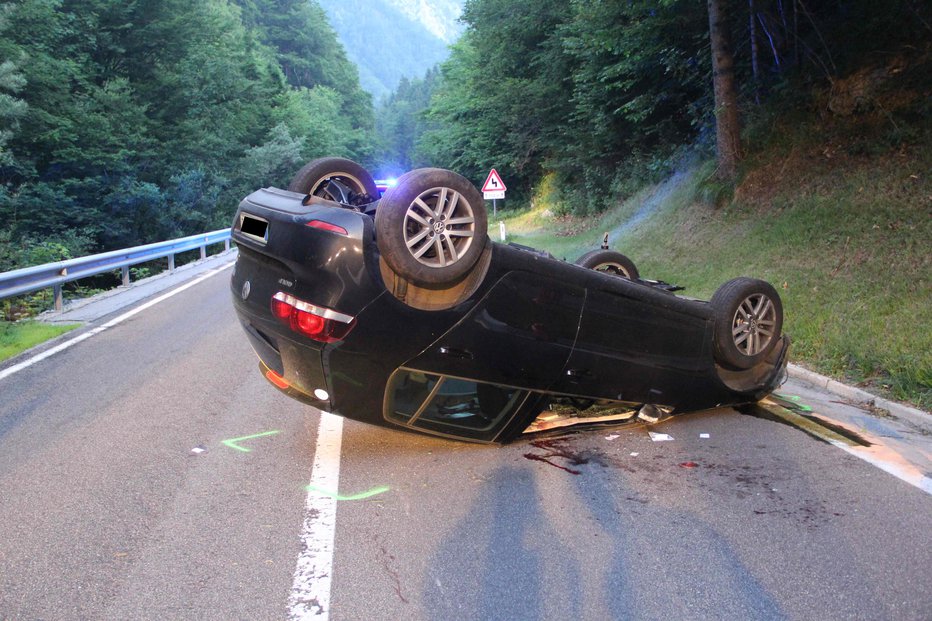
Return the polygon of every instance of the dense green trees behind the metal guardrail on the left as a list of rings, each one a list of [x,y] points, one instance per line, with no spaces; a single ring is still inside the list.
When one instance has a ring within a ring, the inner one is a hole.
[[[313,2],[2,2],[0,270],[228,226],[373,129]]]

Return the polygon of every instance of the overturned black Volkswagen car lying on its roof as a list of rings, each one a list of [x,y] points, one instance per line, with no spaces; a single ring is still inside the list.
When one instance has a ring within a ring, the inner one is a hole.
[[[486,231],[482,195],[441,169],[380,198],[361,166],[323,158],[250,194],[231,288],[262,373],[347,418],[495,443],[749,403],[785,376],[764,281],[693,300],[620,253],[570,264]]]

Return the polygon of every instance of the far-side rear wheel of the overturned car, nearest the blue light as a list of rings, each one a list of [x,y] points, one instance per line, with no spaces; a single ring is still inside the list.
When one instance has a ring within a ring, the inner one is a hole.
[[[321,157],[295,173],[288,189],[344,205],[366,205],[379,199],[379,189],[369,172],[352,160]]]

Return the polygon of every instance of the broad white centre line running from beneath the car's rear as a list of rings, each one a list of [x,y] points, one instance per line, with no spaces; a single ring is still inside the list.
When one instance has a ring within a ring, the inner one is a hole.
[[[342,443],[343,418],[321,412],[301,531],[301,553],[288,598],[289,619],[327,621],[330,616],[330,579],[333,574],[336,493],[340,489]],[[333,496],[324,496],[313,491],[315,488],[333,490]]]

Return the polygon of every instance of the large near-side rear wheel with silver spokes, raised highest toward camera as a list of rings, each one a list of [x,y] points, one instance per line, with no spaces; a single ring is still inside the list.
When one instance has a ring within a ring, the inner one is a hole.
[[[382,258],[396,274],[422,287],[461,280],[482,254],[487,229],[479,190],[465,177],[439,168],[399,177],[375,214]]]

